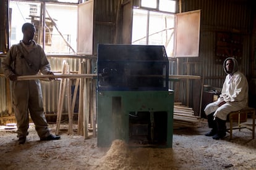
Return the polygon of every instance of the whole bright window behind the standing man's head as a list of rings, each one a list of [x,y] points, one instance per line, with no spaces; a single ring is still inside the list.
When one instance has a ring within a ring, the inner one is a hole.
[[[77,5],[10,1],[9,7],[12,9],[11,26],[16,28],[11,29],[11,46],[23,38],[23,23],[31,22],[36,27],[34,40],[44,47],[46,53],[76,53],[77,19],[74,18],[77,18]],[[41,16],[44,15],[43,22]]]

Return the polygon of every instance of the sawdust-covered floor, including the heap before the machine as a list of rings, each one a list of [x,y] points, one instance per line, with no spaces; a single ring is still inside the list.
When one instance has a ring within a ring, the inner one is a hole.
[[[130,148],[122,140],[98,148],[96,138],[69,136],[66,127],[61,140],[40,142],[32,126],[24,145],[14,130],[0,131],[0,169],[256,169],[256,140],[247,129],[235,131],[233,141],[213,140],[202,123],[174,129],[173,148]]]

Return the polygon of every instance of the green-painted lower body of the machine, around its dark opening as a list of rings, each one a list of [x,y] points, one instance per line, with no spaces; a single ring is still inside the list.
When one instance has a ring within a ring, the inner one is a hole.
[[[148,116],[151,113],[163,114],[167,129],[160,131],[167,130],[166,142],[157,146],[172,147],[173,100],[173,91],[98,92],[98,146],[109,147],[115,139],[129,143],[129,114],[145,111]]]

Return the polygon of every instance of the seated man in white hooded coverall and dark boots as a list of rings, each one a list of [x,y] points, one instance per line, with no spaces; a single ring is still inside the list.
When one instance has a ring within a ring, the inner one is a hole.
[[[226,75],[221,95],[216,102],[209,103],[205,107],[208,126],[212,128],[205,136],[213,136],[216,140],[226,136],[228,114],[246,107],[248,99],[247,79],[238,71],[237,60],[228,58],[224,60],[223,67],[228,75]]]

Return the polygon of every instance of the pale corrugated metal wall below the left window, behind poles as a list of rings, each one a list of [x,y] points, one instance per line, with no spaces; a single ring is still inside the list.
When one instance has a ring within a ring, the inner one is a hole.
[[[70,71],[79,71],[80,62],[90,62],[92,70],[94,73],[96,66],[96,57],[63,57],[63,56],[48,56],[49,63],[51,64],[51,70],[61,73],[62,63],[66,60],[66,63],[70,65]],[[85,70],[87,70],[85,66]],[[1,73],[1,71],[0,71]],[[74,87],[75,79],[71,80],[72,87]],[[59,101],[59,86],[60,79],[54,81],[44,81],[41,80],[41,89],[43,93],[43,108],[45,113],[57,113],[58,111],[58,101]],[[6,79],[4,76],[0,76],[0,113],[1,115],[7,113],[7,99],[6,99]],[[75,108],[77,109],[77,108]],[[67,113],[67,94],[64,97],[64,105],[62,108],[63,113]]]

